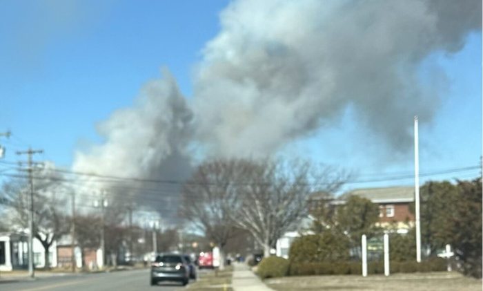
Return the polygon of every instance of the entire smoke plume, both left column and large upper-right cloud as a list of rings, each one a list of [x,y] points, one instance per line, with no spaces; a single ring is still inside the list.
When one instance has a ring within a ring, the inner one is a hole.
[[[481,12],[478,0],[234,1],[197,64],[192,102],[169,75],[150,83],[100,126],[106,142],[79,153],[74,169],[182,180],[190,144],[208,156],[264,156],[348,106],[404,152],[413,115],[431,120],[441,102],[440,88],[420,81],[421,63],[460,50]]]

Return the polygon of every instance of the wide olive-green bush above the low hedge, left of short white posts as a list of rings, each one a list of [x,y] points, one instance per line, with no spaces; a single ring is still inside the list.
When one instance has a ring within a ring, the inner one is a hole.
[[[290,245],[289,256],[293,263],[347,261],[349,239],[337,232],[300,236]]]

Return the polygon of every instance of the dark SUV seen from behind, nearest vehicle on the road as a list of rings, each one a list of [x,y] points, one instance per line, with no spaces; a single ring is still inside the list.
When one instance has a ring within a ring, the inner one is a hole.
[[[160,281],[180,281],[188,284],[190,268],[181,254],[159,254],[151,264],[151,285]]]

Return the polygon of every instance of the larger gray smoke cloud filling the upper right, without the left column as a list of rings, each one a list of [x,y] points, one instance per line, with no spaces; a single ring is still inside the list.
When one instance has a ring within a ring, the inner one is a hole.
[[[353,106],[391,149],[430,121],[440,88],[422,60],[454,53],[481,28],[481,1],[235,1],[195,80],[199,138],[226,156],[265,155]],[[406,127],[405,127],[406,126]]]

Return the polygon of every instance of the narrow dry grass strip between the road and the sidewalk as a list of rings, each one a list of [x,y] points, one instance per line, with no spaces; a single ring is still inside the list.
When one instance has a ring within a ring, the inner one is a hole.
[[[223,271],[208,270],[198,272],[198,279],[194,283],[188,284],[188,289],[199,291],[233,291],[231,288],[231,278],[233,267],[228,266]]]

